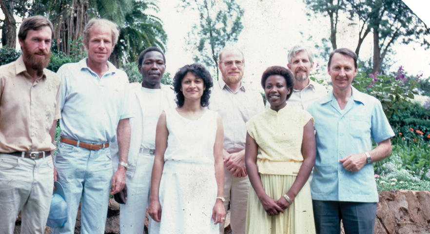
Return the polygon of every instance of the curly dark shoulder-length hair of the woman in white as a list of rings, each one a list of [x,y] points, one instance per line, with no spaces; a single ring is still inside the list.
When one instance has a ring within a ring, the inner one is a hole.
[[[176,93],[176,104],[178,107],[184,105],[184,94],[180,90],[182,85],[182,79],[187,75],[187,73],[193,73],[196,78],[203,79],[203,84],[206,86],[203,91],[203,95],[200,99],[200,105],[206,107],[209,105],[209,98],[211,97],[211,88],[214,86],[214,82],[212,81],[211,74],[206,68],[200,63],[193,63],[191,65],[185,65],[176,72],[175,77],[173,78],[173,86],[175,88]]]

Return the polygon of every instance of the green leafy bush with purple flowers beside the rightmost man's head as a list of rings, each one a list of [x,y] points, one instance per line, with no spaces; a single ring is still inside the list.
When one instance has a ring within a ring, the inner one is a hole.
[[[380,75],[376,72],[374,75],[366,75],[364,72],[358,72],[352,81],[352,86],[358,91],[369,94],[381,101],[382,108],[387,118],[391,118],[393,113],[406,109],[406,104],[411,103],[410,99],[414,94],[418,94],[414,89],[418,87],[415,80],[410,80],[409,85],[405,85],[405,75],[403,68],[400,67],[395,75]],[[408,99],[409,98],[409,99]]]

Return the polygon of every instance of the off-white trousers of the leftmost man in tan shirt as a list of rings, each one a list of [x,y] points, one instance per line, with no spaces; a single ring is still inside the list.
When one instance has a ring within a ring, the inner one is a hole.
[[[54,188],[52,157],[0,154],[0,233],[13,234],[21,211],[21,233],[43,234]]]

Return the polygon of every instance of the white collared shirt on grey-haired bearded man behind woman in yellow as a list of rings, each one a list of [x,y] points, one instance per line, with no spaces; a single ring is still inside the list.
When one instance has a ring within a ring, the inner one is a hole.
[[[287,103],[294,108],[305,110],[314,100],[326,95],[327,89],[324,85],[309,79],[309,84],[302,90],[293,89],[293,94],[287,100]]]

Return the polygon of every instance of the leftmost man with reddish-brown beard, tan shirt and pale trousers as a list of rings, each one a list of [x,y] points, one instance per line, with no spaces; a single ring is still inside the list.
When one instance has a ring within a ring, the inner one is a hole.
[[[0,233],[42,234],[56,172],[51,152],[59,109],[59,77],[46,68],[52,24],[42,16],[22,21],[22,55],[0,67]]]

